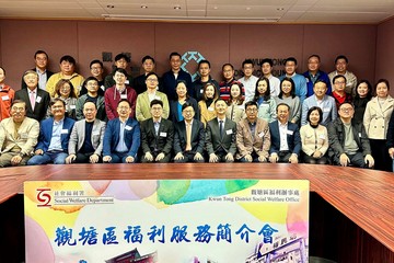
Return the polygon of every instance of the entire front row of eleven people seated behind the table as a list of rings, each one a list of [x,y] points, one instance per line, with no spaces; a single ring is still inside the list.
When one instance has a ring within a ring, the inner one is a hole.
[[[354,106],[343,103],[339,118],[321,125],[317,106],[308,112],[308,124],[289,122],[290,107],[277,105],[277,119],[257,117],[256,102],[245,103],[246,117],[239,124],[225,116],[228,105],[215,102],[217,117],[204,124],[194,118],[192,104],[182,105],[184,121],[173,124],[162,117],[163,102],[152,100],[152,117],[140,124],[132,118],[129,101],[120,100],[118,117],[107,124],[96,119],[96,104],[86,101],[84,119],[66,116],[61,99],[50,102],[53,117],[26,117],[26,103],[15,100],[11,117],[0,123],[0,167],[45,163],[134,162],[289,162],[331,163],[372,168],[369,139],[362,124],[351,122]],[[140,150],[140,151],[139,151]]]

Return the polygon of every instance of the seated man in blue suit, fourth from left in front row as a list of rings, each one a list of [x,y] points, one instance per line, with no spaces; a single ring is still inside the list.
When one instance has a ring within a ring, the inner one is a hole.
[[[104,134],[103,162],[134,163],[140,147],[140,126],[130,117],[131,103],[120,100],[117,104],[119,117],[108,122]]]

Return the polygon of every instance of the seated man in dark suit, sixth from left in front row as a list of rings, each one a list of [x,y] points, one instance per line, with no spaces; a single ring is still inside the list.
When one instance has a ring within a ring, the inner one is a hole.
[[[174,162],[204,162],[204,124],[194,118],[195,111],[189,103],[182,105],[184,121],[175,124]]]

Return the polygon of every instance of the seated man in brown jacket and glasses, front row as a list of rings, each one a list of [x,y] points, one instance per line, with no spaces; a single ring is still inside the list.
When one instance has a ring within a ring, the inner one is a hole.
[[[267,162],[270,147],[268,123],[257,118],[257,103],[245,104],[246,118],[236,125],[236,159],[241,162]]]

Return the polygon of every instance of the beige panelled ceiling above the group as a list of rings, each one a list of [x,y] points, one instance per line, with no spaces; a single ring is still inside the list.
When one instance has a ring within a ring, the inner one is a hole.
[[[1,19],[380,23],[394,0],[0,0]]]

